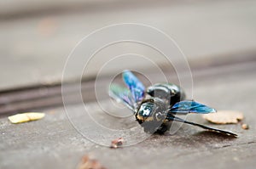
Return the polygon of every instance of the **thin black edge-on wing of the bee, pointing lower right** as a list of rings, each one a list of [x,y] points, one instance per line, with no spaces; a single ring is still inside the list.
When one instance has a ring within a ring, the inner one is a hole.
[[[171,114],[168,114],[166,116],[166,119],[169,120],[169,121],[183,122],[183,123],[186,123],[186,124],[190,124],[190,125],[193,125],[193,126],[196,126],[196,127],[201,127],[201,128],[204,128],[204,129],[207,129],[207,130],[210,130],[210,131],[214,131],[214,132],[224,133],[224,134],[227,134],[227,135],[230,135],[230,136],[233,136],[233,137],[237,136],[233,132],[228,132],[228,131],[224,131],[224,130],[220,130],[220,129],[212,128],[212,127],[207,127],[207,126],[204,126],[204,125],[201,125],[201,124],[197,124],[195,122],[185,121],[182,118],[179,118],[179,117],[171,115]]]

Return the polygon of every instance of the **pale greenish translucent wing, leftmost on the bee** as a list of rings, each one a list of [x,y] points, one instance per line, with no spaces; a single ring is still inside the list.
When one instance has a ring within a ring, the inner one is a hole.
[[[128,107],[130,110],[135,111],[134,101],[128,88],[121,87],[117,84],[111,84],[108,94],[118,103],[121,102],[125,104],[125,106]]]

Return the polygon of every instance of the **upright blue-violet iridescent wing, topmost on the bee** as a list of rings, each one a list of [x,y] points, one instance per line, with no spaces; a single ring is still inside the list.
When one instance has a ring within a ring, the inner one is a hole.
[[[130,89],[135,103],[142,101],[145,96],[145,87],[143,83],[137,79],[137,76],[133,75],[130,70],[124,70],[123,80]]]

